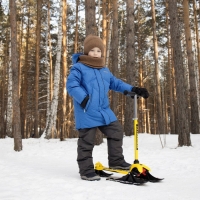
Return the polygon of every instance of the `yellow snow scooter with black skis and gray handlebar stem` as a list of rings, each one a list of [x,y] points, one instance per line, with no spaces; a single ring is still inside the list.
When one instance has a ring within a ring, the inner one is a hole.
[[[149,171],[150,168],[146,165],[140,164],[138,159],[138,118],[137,118],[137,99],[138,95],[134,92],[124,91],[124,95],[128,95],[130,97],[134,97],[134,117],[133,117],[133,131],[134,131],[134,153],[135,160],[134,164],[131,165],[129,170],[123,169],[112,169],[109,167],[103,166],[100,162],[95,164],[95,172],[101,177],[107,177],[106,180],[117,181],[125,184],[134,184],[134,185],[142,185],[146,182],[159,182],[163,179],[156,178],[152,176]],[[110,173],[106,173],[104,171],[115,172],[120,174],[125,174],[120,178],[112,177]]]

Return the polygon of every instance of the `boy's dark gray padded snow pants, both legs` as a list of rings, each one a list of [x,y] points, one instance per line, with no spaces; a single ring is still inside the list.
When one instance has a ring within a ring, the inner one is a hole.
[[[122,154],[123,128],[121,124],[115,121],[106,126],[99,126],[98,128],[107,136],[109,166],[121,165],[124,162]],[[92,151],[96,129],[97,127],[79,129],[77,162],[81,176],[94,172]]]

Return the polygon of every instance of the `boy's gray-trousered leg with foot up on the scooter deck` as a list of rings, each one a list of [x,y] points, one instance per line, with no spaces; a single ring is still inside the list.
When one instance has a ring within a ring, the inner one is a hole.
[[[107,126],[98,128],[107,136],[109,166],[121,165],[124,162],[122,149],[123,128],[121,124],[115,121]]]

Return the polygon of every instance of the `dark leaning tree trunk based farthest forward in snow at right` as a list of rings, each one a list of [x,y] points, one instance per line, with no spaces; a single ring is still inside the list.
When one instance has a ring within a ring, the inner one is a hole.
[[[174,69],[177,92],[177,124],[179,146],[191,146],[189,119],[188,119],[188,104],[185,91],[185,79],[183,68],[183,57],[181,50],[181,38],[177,18],[177,1],[169,0],[169,16],[170,16],[170,33],[172,47],[174,50]],[[181,74],[181,76],[180,76]]]

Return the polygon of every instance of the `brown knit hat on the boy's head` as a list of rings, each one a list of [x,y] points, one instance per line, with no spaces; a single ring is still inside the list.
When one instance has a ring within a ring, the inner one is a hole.
[[[103,40],[95,35],[88,35],[84,42],[84,54],[88,55],[89,51],[94,48],[94,47],[98,47],[99,49],[101,49],[101,56],[103,57],[104,55],[104,45],[103,45]]]

